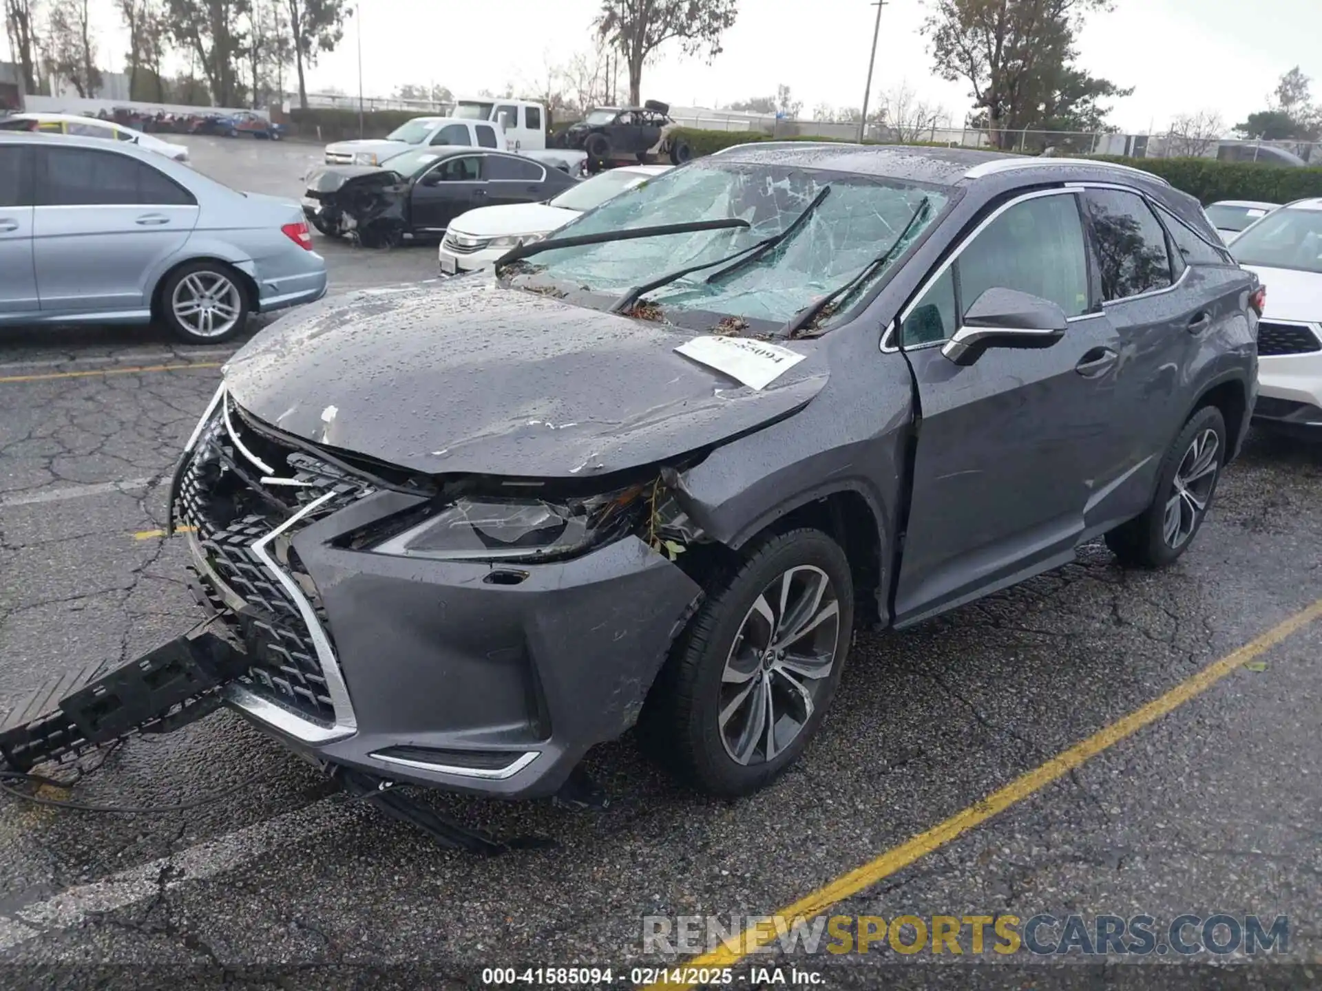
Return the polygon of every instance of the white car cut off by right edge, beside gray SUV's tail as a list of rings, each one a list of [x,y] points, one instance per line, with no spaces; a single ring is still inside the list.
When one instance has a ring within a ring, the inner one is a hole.
[[[1322,440],[1322,198],[1269,213],[1231,254],[1266,287],[1253,419]]]

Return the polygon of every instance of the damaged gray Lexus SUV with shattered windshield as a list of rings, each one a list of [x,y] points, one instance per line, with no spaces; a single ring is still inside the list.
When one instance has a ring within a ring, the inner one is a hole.
[[[639,737],[765,785],[855,625],[1183,554],[1256,398],[1261,292],[1133,169],[748,145],[226,366],[172,492],[225,688],[334,766],[555,793]]]

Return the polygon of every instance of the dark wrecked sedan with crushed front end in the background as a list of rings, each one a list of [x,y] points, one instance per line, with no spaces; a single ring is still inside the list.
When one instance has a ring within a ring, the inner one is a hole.
[[[352,235],[368,247],[444,235],[475,206],[535,203],[570,189],[576,178],[522,155],[472,148],[418,148],[385,165],[312,169],[303,213],[323,234]]]

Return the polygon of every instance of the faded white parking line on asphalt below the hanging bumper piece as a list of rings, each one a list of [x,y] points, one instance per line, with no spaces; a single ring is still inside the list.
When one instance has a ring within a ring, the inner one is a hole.
[[[272,850],[317,836],[346,822],[353,807],[344,795],[323,798],[303,809],[254,823],[218,839],[163,856],[147,864],[112,873],[91,884],[79,884],[45,901],[0,916],[0,953],[41,936],[49,929],[82,925],[89,916],[115,912],[177,888],[202,881],[256,860]],[[164,881],[163,881],[164,879]]]

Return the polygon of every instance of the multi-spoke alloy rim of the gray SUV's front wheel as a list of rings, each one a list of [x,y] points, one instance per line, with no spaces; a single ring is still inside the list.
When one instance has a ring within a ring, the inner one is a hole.
[[[800,566],[761,591],[720,675],[720,741],[736,764],[789,747],[826,692],[839,654],[839,600],[821,568]]]

